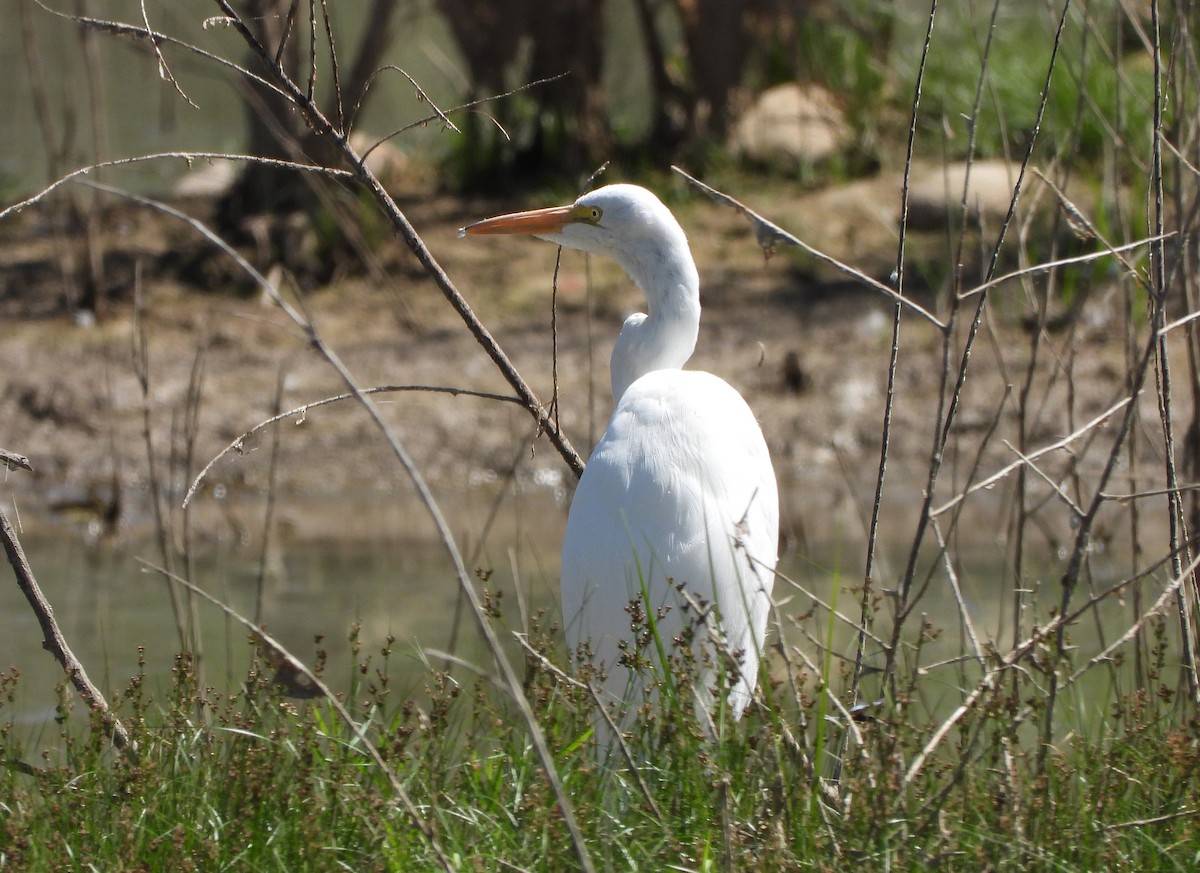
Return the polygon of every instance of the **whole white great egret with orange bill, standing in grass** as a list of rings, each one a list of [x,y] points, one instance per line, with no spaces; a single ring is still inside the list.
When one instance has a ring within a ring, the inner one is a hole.
[[[649,191],[610,185],[574,204],[487,218],[468,234],[532,234],[613,258],[646,295],[612,351],[608,427],[588,460],[563,540],[563,621],[572,654],[590,650],[607,699],[635,703],[631,664],[680,645],[685,596],[715,604],[740,660],[728,704],[754,693],[770,607],[779,496],[767,442],[742,396],[684,371],[700,332],[700,277],[688,239]],[[641,614],[641,645],[631,616]],[[706,636],[703,628],[697,638]],[[712,648],[709,648],[712,651]],[[712,704],[719,656],[696,684]],[[630,710],[634,708],[630,706]]]

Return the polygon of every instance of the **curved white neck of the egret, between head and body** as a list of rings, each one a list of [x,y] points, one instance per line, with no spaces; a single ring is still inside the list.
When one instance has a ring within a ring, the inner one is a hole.
[[[612,399],[656,369],[679,369],[700,333],[700,276],[683,230],[671,245],[646,246],[617,258],[646,295],[647,313],[625,319],[612,350]]]

